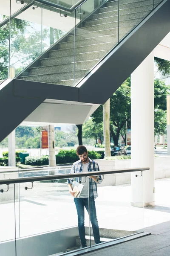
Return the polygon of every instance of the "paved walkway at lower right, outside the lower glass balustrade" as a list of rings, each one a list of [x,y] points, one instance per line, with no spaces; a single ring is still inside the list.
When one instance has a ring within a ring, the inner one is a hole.
[[[86,256],[170,256],[170,178],[156,180],[156,206],[145,207],[144,231],[152,235],[88,253]],[[159,224],[151,225],[159,213]],[[165,214],[166,213],[166,217]],[[167,216],[168,215],[168,216]]]

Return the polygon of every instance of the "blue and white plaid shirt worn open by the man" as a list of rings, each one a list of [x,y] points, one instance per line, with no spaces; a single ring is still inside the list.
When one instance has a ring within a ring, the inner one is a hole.
[[[96,163],[94,160],[89,159],[89,165],[88,165],[88,172],[99,172],[99,165]],[[71,172],[70,173],[77,173],[77,172],[82,172],[83,165],[82,161],[78,160],[75,162],[72,167],[71,167]],[[97,176],[99,178],[99,184],[102,183],[102,177],[99,175]],[[77,182],[81,183],[82,177],[76,177],[75,178]],[[74,178],[67,179],[68,184],[73,184]],[[90,197],[91,198],[96,198],[97,197],[97,184],[93,179],[89,179],[90,181]]]

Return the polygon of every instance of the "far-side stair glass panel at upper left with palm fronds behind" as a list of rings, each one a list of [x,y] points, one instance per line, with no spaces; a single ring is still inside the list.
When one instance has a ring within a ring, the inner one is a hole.
[[[12,1],[11,9],[17,4]],[[33,9],[34,8],[34,9]],[[30,6],[11,20],[10,77],[13,78],[42,53],[42,10]]]

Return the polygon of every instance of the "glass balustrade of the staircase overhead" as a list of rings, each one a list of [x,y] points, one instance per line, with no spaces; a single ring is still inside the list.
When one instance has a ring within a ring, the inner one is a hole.
[[[40,2],[0,9],[0,22],[10,17],[0,25],[0,80],[76,86],[160,0],[51,1],[71,11]]]

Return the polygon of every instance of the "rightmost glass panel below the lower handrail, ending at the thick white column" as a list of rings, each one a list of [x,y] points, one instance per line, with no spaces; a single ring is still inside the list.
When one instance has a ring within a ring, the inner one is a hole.
[[[141,175],[141,172],[135,174]],[[136,177],[136,181],[138,179],[140,183],[138,191],[140,197],[138,206],[140,207],[132,206],[131,184],[117,185],[121,184],[121,180],[124,183],[125,176],[130,180],[131,173],[104,175],[102,183],[97,185],[98,197],[95,201],[92,200],[92,207],[90,208],[91,219],[94,218],[93,225],[94,230],[96,230],[94,236],[91,228],[92,245],[95,244],[94,240],[96,239],[97,242],[98,239],[97,221],[101,242],[121,239],[144,231],[143,176]]]

